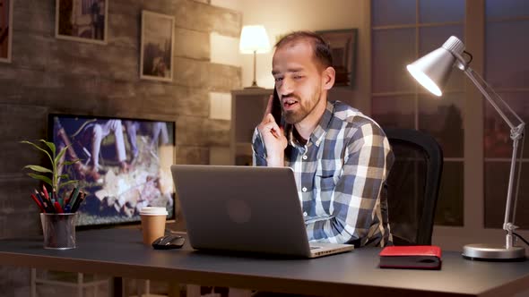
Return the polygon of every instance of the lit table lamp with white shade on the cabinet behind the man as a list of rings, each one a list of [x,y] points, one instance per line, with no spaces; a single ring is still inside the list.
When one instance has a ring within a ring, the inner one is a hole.
[[[244,26],[240,32],[238,50],[241,54],[254,54],[254,81],[249,88],[259,88],[256,81],[256,54],[263,54],[270,50],[270,41],[264,26]]]

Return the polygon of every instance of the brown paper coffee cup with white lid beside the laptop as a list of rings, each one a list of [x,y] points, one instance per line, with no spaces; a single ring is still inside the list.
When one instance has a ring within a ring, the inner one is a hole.
[[[167,215],[165,208],[147,207],[140,210],[143,243],[151,245],[155,239],[164,235]]]

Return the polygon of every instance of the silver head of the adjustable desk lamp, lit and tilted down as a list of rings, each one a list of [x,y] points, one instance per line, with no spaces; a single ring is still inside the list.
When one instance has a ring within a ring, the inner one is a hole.
[[[463,51],[463,42],[455,36],[451,36],[442,47],[424,55],[419,60],[407,65],[406,68],[424,88],[436,96],[441,96],[443,95],[441,89],[447,83],[454,67],[455,55],[461,55]]]

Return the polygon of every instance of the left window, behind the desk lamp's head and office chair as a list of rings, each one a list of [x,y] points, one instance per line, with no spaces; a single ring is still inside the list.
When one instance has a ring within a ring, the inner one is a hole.
[[[453,72],[441,98],[415,83],[406,65],[451,35],[464,40],[462,0],[373,0],[371,115],[382,127],[429,132],[445,164],[437,225],[464,224],[464,74]]]

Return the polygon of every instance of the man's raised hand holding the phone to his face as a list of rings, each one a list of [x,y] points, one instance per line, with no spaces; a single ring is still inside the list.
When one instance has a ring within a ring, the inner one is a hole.
[[[266,163],[268,166],[282,167],[284,165],[284,150],[287,148],[288,142],[283,128],[275,122],[272,115],[274,99],[277,100],[272,95],[268,99],[263,121],[259,123],[257,130],[263,138],[264,147],[266,148]]]

